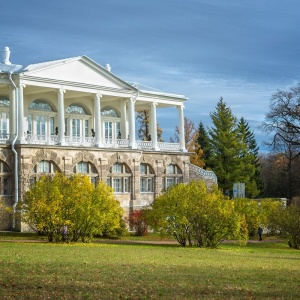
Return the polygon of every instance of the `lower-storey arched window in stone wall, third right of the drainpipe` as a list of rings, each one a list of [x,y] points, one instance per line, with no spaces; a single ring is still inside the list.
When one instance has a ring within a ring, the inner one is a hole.
[[[110,168],[107,185],[111,186],[115,193],[129,193],[130,178],[130,169],[125,164],[117,162]]]

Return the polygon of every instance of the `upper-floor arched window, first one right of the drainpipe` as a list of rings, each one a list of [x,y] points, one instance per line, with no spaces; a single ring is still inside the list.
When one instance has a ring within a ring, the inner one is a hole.
[[[54,135],[54,119],[56,115],[57,113],[46,100],[34,100],[28,108],[27,133],[36,134],[38,139],[45,139],[46,135]]]

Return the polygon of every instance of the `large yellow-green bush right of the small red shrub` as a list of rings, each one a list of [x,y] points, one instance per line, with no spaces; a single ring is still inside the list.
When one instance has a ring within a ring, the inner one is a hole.
[[[178,184],[158,196],[148,222],[162,235],[173,235],[182,246],[217,247],[227,238],[245,238],[234,204],[204,182]]]

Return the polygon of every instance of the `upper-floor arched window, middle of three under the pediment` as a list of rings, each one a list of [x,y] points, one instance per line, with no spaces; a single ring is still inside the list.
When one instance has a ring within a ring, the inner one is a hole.
[[[79,137],[89,137],[92,135],[90,128],[91,116],[86,109],[79,104],[72,104],[66,109],[65,134],[73,137],[73,141]]]

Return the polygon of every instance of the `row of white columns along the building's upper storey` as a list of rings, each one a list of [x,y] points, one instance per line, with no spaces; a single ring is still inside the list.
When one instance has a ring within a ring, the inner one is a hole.
[[[11,87],[10,89],[10,133],[13,135],[16,132],[16,126],[18,126],[18,139],[17,142],[20,144],[26,143],[25,132],[25,116],[24,116],[24,84],[18,84],[16,89]],[[66,90],[64,87],[57,89],[57,103],[58,103],[58,144],[65,146],[65,105],[64,105],[64,94]],[[99,91],[94,93],[94,128],[95,128],[95,145],[101,148],[102,144],[102,123],[101,123],[101,98],[102,94]],[[135,103],[137,97],[130,97],[120,100],[120,111],[121,111],[121,134],[122,137],[129,138],[129,147],[136,149],[136,126],[135,126]],[[128,104],[128,112],[126,111]],[[156,109],[158,102],[150,102],[150,133],[152,149],[159,150],[157,140],[157,117]],[[178,109],[178,127],[179,127],[179,143],[180,151],[185,152],[185,141],[184,141],[184,106],[183,104],[176,105]],[[17,109],[16,109],[17,108]],[[127,128],[127,113],[128,113],[128,128]],[[18,118],[15,122],[15,118]]]

